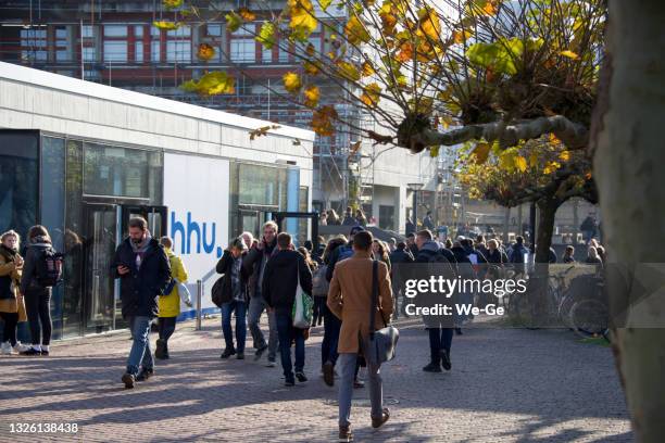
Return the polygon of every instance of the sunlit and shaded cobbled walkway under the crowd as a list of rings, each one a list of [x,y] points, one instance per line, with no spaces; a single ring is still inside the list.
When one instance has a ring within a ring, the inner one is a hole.
[[[322,328],[308,341],[310,381],[287,389],[265,359],[221,360],[217,322],[199,332],[180,325],[172,358],[129,391],[120,382],[126,332],[59,342],[48,358],[0,357],[0,441],[336,440],[336,390],[318,376]],[[356,390],[359,442],[632,441],[608,347],[562,330],[469,329],[454,338],[453,370],[426,374],[426,331],[401,331],[399,355],[382,369],[392,416],[372,430],[367,392]],[[79,432],[9,434],[25,421],[76,422]]]

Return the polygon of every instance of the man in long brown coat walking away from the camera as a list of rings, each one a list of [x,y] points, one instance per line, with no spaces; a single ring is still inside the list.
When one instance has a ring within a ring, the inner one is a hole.
[[[351,440],[350,421],[351,397],[353,394],[353,375],[362,343],[369,336],[369,315],[372,309],[372,241],[371,232],[361,231],[353,238],[353,256],[339,262],[335,267],[328,307],[342,321],[339,333],[340,368],[339,383],[339,438]],[[390,275],[385,263],[378,263],[378,308],[375,313],[376,329],[384,327],[392,314],[392,291]],[[382,316],[382,317],[381,317]],[[369,398],[372,401],[372,426],[379,428],[389,417],[388,408],[382,407],[382,385],[379,376],[380,366],[367,364],[369,378]]]

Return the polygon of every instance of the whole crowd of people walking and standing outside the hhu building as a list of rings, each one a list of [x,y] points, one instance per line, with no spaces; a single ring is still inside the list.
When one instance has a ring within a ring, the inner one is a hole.
[[[328,223],[336,214],[325,214]],[[429,214],[428,214],[429,216]],[[337,217],[339,218],[339,217]],[[350,219],[347,221],[347,219]],[[277,357],[286,387],[308,381],[305,374],[305,341],[312,327],[322,326],[321,374],[327,385],[339,383],[339,433],[350,439],[350,410],[353,389],[365,387],[359,377],[366,367],[372,425],[380,427],[390,416],[382,405],[382,384],[379,365],[368,364],[363,346],[369,334],[367,318],[372,313],[373,263],[378,263],[377,281],[379,303],[373,314],[377,324],[404,315],[403,277],[396,270],[410,263],[446,264],[451,276],[475,273],[473,265],[487,264],[491,269],[503,267],[519,269],[527,263],[529,249],[524,238],[503,245],[501,240],[484,236],[475,239],[457,237],[438,241],[430,229],[410,232],[405,241],[390,239],[384,242],[365,229],[364,214],[352,215],[348,208],[342,225],[351,224],[349,237],[337,236],[313,249],[311,241],[296,248],[288,232],[278,232],[274,221],[267,221],[262,236],[255,239],[243,232],[230,241],[216,265],[221,275],[213,287],[213,301],[221,307],[224,349],[222,359],[246,358],[247,329],[253,347],[253,359],[266,355],[266,366],[277,366]],[[34,226],[28,232],[25,260],[18,253],[20,236],[9,231],[0,237],[0,316],[4,321],[2,353],[49,355],[51,338],[51,288],[59,281],[62,265],[53,250],[48,230]],[[172,250],[168,237],[154,239],[143,218],[128,223],[128,237],[117,248],[111,271],[121,279],[122,314],[131,332],[133,344],[122,376],[125,388],[134,388],[154,375],[154,362],[170,358],[168,340],[175,331],[180,302],[191,306],[185,265]],[[557,262],[551,251],[551,263]],[[587,263],[604,262],[604,249],[590,239]],[[566,248],[563,263],[575,262],[575,250]],[[54,265],[54,266],[53,266]],[[46,269],[46,270],[45,270]],[[463,277],[476,277],[468,275]],[[487,278],[488,275],[478,276]],[[491,277],[491,276],[490,276]],[[293,305],[299,291],[313,301],[313,318],[308,328],[293,324]],[[267,334],[261,328],[263,313],[267,317]],[[154,355],[149,333],[156,318],[159,339]],[[233,319],[235,318],[235,325]],[[29,321],[32,344],[16,340],[16,325]],[[435,319],[426,322],[429,334],[429,360],[423,367],[427,372],[452,369],[451,347],[455,332],[462,334],[465,318],[454,321]],[[267,339],[266,339],[267,336]],[[291,349],[294,349],[292,355]],[[292,359],[294,356],[294,359]]]

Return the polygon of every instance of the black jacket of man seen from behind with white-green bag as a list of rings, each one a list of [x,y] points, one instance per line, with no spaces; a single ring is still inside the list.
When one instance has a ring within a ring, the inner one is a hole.
[[[278,251],[265,266],[262,293],[265,303],[276,312],[291,314],[296,301],[296,288],[300,274],[300,287],[312,294],[312,271],[297,251]]]

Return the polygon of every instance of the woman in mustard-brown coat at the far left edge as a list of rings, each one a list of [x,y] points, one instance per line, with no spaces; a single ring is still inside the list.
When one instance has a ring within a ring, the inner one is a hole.
[[[23,294],[18,291],[23,257],[18,255],[21,238],[13,230],[0,237],[0,318],[4,320],[2,331],[2,354],[16,354],[21,343],[16,340],[16,326],[27,321]]]

